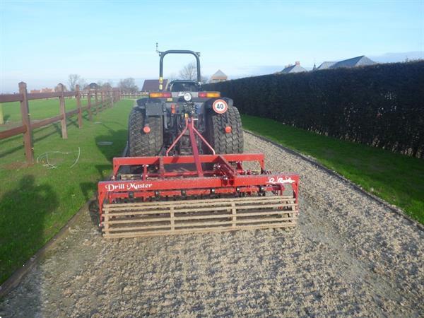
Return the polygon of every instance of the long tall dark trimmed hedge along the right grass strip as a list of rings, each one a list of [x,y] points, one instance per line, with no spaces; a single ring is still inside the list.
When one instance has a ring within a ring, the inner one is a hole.
[[[240,112],[424,157],[424,61],[206,84]]]

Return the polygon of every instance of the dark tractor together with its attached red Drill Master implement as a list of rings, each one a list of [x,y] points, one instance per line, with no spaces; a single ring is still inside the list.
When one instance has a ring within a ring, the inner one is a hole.
[[[295,226],[299,176],[272,174],[263,154],[243,153],[239,111],[232,99],[202,89],[199,52],[158,53],[158,90],[136,100],[126,156],[114,158],[111,179],[98,184],[103,235]],[[164,87],[167,54],[193,55],[197,81]]]

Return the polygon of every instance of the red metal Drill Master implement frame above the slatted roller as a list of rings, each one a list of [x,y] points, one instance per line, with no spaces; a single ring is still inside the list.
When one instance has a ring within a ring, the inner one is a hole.
[[[172,196],[252,195],[265,192],[282,194],[285,186],[290,184],[295,202],[298,203],[299,176],[271,174],[264,170],[264,155],[261,153],[198,155],[197,160],[199,164],[213,165],[213,170],[204,170],[204,175],[199,176],[198,170],[172,169],[175,165],[196,165],[194,155],[114,158],[112,180],[98,184],[100,224],[105,200],[112,203],[119,199],[146,201]],[[242,163],[247,161],[257,162],[261,167],[260,174],[254,175],[250,170],[243,170]],[[147,167],[152,165],[158,167],[158,171],[148,172]],[[119,180],[119,169],[124,166],[142,167],[140,179]],[[170,171],[166,169],[168,166]]]

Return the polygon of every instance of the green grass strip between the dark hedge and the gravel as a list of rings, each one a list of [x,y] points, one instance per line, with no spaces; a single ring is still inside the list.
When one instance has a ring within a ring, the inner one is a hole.
[[[242,122],[245,129],[312,155],[324,166],[424,223],[423,159],[321,136],[271,119],[243,115]]]

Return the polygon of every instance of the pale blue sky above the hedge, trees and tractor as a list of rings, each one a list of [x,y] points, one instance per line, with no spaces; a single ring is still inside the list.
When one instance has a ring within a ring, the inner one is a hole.
[[[16,90],[18,81],[66,84],[69,73],[141,85],[158,77],[155,42],[160,50],[199,51],[204,75],[221,69],[230,78],[295,61],[312,67],[388,52],[404,59],[424,52],[424,0],[0,0],[0,90]],[[166,57],[165,76],[189,61]]]

